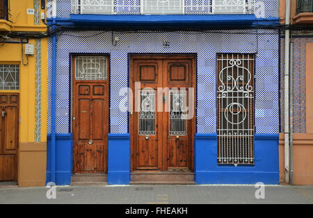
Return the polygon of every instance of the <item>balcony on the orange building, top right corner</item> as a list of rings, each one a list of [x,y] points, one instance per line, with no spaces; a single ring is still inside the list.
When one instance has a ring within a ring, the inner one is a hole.
[[[294,24],[313,24],[313,0],[297,0]]]

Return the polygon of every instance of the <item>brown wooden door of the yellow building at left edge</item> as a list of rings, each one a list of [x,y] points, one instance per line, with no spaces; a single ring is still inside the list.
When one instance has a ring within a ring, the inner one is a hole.
[[[0,181],[17,181],[19,94],[0,94]]]

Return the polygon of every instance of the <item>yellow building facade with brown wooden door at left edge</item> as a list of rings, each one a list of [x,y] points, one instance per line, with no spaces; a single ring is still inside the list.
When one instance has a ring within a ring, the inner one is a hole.
[[[45,1],[0,0],[0,183],[46,182],[45,15]]]

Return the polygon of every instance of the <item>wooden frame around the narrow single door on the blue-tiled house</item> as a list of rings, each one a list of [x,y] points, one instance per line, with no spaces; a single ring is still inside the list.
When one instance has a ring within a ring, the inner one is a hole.
[[[108,53],[73,53],[71,55],[71,65],[72,65],[72,69],[71,69],[71,82],[72,82],[72,97],[71,97],[71,122],[70,122],[70,125],[71,125],[71,130],[72,130],[72,134],[73,134],[73,149],[72,149],[72,160],[73,160],[73,166],[72,166],[72,174],[75,173],[74,169],[75,169],[75,163],[74,163],[74,156],[75,156],[75,153],[74,153],[74,146],[75,146],[75,142],[76,142],[76,139],[75,139],[75,134],[77,133],[74,133],[74,120],[73,120],[73,117],[77,116],[77,107],[75,108],[74,106],[74,103],[77,102],[76,98],[75,98],[75,93],[76,93],[76,84],[77,84],[77,80],[75,78],[75,58],[79,57],[79,56],[104,56],[106,57],[106,66],[107,66],[107,69],[106,69],[106,80],[104,81],[79,81],[79,83],[104,83],[106,84],[106,88],[104,89],[104,96],[106,97],[104,99],[104,102],[106,103],[107,107],[108,107],[108,110],[106,112],[106,119],[108,121],[108,126],[107,126],[107,133],[105,135],[105,143],[106,143],[106,156],[104,156],[104,166],[106,166],[106,169],[104,170],[104,173],[108,173],[108,151],[109,151],[109,138],[108,138],[108,134],[110,133],[110,56]],[[76,120],[75,120],[76,121]],[[76,131],[77,131],[77,128],[76,128]]]

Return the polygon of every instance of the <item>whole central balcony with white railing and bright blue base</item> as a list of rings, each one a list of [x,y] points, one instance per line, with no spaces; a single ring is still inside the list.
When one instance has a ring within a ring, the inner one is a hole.
[[[199,30],[278,23],[278,17],[256,17],[257,0],[64,1],[71,3],[70,19],[56,22],[72,28]]]

